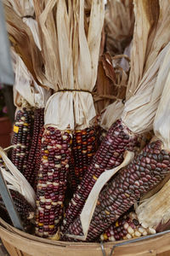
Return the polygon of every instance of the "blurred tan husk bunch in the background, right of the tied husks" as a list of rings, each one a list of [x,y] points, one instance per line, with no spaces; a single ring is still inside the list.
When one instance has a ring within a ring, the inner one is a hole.
[[[108,0],[105,11],[106,50],[122,54],[133,38],[133,0]]]

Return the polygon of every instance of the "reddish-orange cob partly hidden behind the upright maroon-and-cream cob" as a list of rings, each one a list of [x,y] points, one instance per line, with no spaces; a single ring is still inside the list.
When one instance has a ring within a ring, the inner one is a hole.
[[[77,185],[88,170],[93,156],[97,150],[97,127],[89,127],[84,130],[76,130],[72,137],[71,160],[71,189],[76,191]]]

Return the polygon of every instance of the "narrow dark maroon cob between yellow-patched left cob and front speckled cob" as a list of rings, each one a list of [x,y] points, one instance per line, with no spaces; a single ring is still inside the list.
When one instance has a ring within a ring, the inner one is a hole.
[[[27,181],[34,187],[36,178],[36,161],[37,161],[37,144],[38,137],[44,125],[44,108],[37,108],[34,111],[34,127],[33,135],[31,139],[31,148],[28,156],[28,161],[26,164],[26,169],[23,170],[23,175],[26,177]]]

